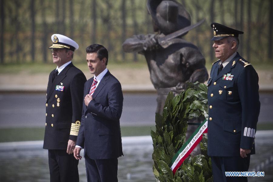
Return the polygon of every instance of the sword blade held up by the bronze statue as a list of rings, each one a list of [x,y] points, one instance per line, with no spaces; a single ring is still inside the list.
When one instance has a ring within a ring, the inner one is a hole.
[[[197,27],[198,25],[201,25],[204,21],[205,21],[205,19],[202,19],[201,21],[197,22],[194,25],[187,26],[183,29],[180,29],[180,30],[177,30],[173,33],[170,33],[164,37],[160,37],[160,38],[158,38],[158,44],[161,45],[163,48],[167,48],[174,43],[181,42],[181,39],[175,39],[175,38],[188,32],[189,30]],[[172,40],[172,41],[170,41],[170,40]]]

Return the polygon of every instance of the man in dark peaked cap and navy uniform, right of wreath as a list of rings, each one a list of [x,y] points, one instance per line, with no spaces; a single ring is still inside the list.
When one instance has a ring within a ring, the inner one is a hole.
[[[212,23],[215,57],[208,80],[208,155],[214,181],[247,181],[225,172],[248,171],[255,153],[254,138],[260,113],[258,74],[242,58],[238,35],[244,32]]]

